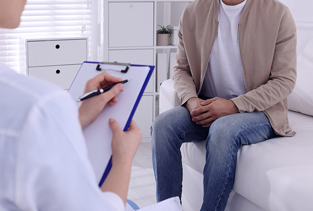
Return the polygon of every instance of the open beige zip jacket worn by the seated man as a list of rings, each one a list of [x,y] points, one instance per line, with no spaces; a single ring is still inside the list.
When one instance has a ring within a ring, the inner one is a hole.
[[[174,87],[181,104],[200,93],[218,28],[219,0],[187,5],[178,26]],[[278,0],[247,0],[238,25],[247,93],[231,99],[240,112],[263,111],[277,135],[293,136],[287,96],[296,83],[296,26]]]

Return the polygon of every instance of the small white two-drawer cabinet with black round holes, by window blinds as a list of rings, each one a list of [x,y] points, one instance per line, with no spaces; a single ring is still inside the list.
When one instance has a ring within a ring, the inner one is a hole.
[[[21,72],[69,89],[80,65],[88,59],[88,37],[20,37],[20,55]]]

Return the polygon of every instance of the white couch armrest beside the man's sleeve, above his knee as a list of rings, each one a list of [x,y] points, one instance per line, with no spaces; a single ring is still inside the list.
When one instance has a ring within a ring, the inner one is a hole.
[[[160,113],[167,111],[176,106],[180,106],[180,100],[174,88],[174,81],[168,79],[162,82],[160,87]]]

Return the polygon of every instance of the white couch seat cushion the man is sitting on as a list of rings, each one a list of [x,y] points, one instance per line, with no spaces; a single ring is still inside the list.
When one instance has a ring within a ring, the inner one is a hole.
[[[312,210],[313,117],[288,116],[295,136],[244,145],[237,156],[233,190],[266,211]],[[181,153],[182,162],[203,173],[205,141],[184,143]]]

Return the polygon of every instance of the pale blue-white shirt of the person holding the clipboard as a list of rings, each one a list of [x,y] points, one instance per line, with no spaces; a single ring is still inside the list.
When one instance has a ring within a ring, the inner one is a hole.
[[[60,88],[0,64],[0,210],[124,211],[102,192],[77,106]]]

